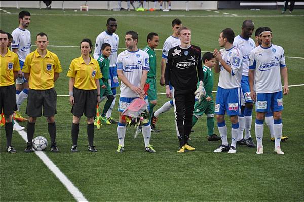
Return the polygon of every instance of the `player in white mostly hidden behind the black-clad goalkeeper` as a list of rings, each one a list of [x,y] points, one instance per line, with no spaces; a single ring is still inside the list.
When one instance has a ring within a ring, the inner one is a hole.
[[[178,37],[178,29],[180,27],[182,27],[181,20],[179,20],[178,18],[174,19],[172,21],[173,33],[164,42],[162,61],[161,61],[161,79],[160,79],[161,86],[165,85],[165,68],[166,68],[169,50],[173,47],[180,45],[180,39]],[[171,85],[170,85],[170,89],[172,89]],[[166,102],[165,104],[163,104],[163,106],[161,108],[159,108],[152,114],[151,125],[153,126],[153,128],[155,128],[155,124],[156,124],[158,116],[162,113],[169,111],[171,108],[173,108],[173,100]]]

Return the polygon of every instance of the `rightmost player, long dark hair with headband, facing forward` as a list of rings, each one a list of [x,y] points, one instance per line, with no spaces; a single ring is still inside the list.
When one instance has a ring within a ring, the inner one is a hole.
[[[288,74],[285,64],[284,49],[271,43],[272,32],[263,27],[259,34],[262,44],[250,52],[249,84],[251,98],[256,101],[255,136],[257,141],[256,154],[263,153],[264,117],[272,111],[274,116],[275,152],[281,150],[283,94],[289,92]],[[281,74],[284,79],[282,91]]]

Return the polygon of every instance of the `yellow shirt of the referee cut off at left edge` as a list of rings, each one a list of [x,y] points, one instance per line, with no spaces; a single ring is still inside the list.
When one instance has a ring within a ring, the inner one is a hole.
[[[20,70],[18,55],[8,49],[7,54],[0,55],[0,86],[15,84],[14,71]]]

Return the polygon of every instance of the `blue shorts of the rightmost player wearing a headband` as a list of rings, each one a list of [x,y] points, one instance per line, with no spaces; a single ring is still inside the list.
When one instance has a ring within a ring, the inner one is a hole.
[[[256,94],[256,112],[268,113],[282,111],[283,109],[283,91]]]

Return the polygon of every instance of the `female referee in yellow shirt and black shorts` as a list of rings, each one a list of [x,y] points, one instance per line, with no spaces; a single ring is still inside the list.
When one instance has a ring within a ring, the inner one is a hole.
[[[77,139],[79,133],[79,121],[83,113],[87,117],[88,150],[97,152],[94,141],[94,116],[97,101],[100,102],[99,79],[102,78],[97,60],[90,56],[92,52],[90,39],[83,39],[80,43],[81,56],[72,60],[67,76],[69,79],[69,101],[72,105],[72,148],[71,152],[77,152]]]

